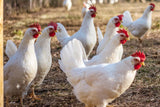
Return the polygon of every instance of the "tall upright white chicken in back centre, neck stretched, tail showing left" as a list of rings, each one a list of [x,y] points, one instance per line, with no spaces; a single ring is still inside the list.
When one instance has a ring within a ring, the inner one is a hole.
[[[76,38],[82,42],[88,57],[97,42],[96,31],[93,23],[94,17],[96,17],[96,7],[91,6],[89,11],[85,14],[80,30],[73,36],[69,36],[66,30],[64,31],[64,26],[57,23],[58,32],[56,33],[56,36],[61,45],[64,46],[70,40]]]

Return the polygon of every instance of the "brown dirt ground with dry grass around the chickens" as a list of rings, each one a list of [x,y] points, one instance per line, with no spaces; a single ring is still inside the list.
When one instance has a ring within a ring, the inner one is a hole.
[[[97,5],[97,17],[94,19],[95,26],[99,26],[105,32],[108,20],[116,15],[129,10],[133,19],[139,18],[149,3],[121,3],[115,5]],[[145,67],[137,71],[136,78],[131,87],[114,100],[111,105],[115,107],[160,107],[160,3],[156,3],[155,11],[152,14],[152,29],[148,37],[143,39],[143,48],[146,54]],[[50,21],[62,23],[70,35],[74,34],[81,26],[81,6],[75,6],[70,12],[64,8],[47,8],[40,11],[12,15],[4,21],[4,49],[6,41],[11,39],[18,46],[23,34],[33,22],[39,22],[42,28]],[[132,38],[124,45],[123,58],[138,50],[139,44]],[[65,74],[58,64],[61,46],[56,37],[52,38],[52,59],[53,64],[49,74],[41,87],[36,88],[36,94],[42,100],[35,101],[28,96],[24,99],[24,105],[30,107],[84,107],[73,95],[72,87],[67,82]],[[96,49],[96,48],[95,48]],[[93,51],[92,55],[95,53]],[[4,64],[8,61],[4,54]],[[13,102],[12,106],[20,106]]]

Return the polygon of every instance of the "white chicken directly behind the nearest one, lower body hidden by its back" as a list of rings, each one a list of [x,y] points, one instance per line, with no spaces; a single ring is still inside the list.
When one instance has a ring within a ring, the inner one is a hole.
[[[129,35],[124,29],[117,32],[118,34],[111,38],[105,48],[98,55],[95,55],[90,60],[86,60],[84,62],[86,66],[103,63],[111,64],[121,61],[123,55],[123,44],[129,40]],[[77,51],[79,51],[78,48]]]

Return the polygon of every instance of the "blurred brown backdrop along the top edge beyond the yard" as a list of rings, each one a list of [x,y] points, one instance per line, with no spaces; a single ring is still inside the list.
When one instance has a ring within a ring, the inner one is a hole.
[[[72,0],[73,6],[78,6],[87,0]],[[91,0],[92,1],[92,0]],[[93,0],[96,4],[114,4],[123,2],[142,2],[146,1],[160,1],[160,0]],[[19,12],[30,12],[41,8],[47,7],[62,7],[63,0],[4,0],[4,15],[11,15],[12,13]]]

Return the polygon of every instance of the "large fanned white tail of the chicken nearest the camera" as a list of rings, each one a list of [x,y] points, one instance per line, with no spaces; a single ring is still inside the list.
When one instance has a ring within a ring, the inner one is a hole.
[[[61,60],[59,60],[60,68],[67,74],[73,68],[84,67],[83,60],[86,57],[84,48],[81,42],[73,39],[60,52]]]

